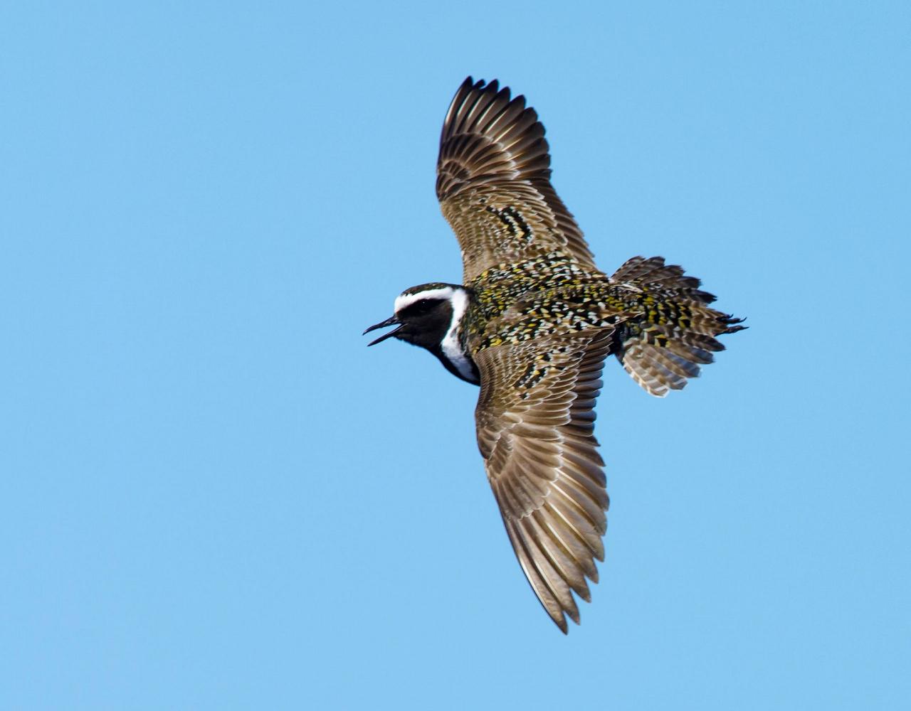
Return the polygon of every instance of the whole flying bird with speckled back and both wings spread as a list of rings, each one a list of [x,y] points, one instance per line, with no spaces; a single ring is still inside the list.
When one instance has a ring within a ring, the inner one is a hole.
[[[463,283],[405,289],[403,340],[479,385],[477,444],[528,583],[566,634],[604,560],[609,497],[594,435],[604,362],[650,395],[681,390],[746,328],[661,257],[608,276],[550,181],[545,130],[524,96],[468,76],[446,112],[436,196],[462,251]]]

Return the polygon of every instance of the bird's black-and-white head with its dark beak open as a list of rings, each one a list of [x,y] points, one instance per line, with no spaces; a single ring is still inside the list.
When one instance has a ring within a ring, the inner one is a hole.
[[[375,323],[363,332],[397,326],[368,345],[396,338],[427,350],[439,350],[446,334],[455,326],[454,321],[465,313],[467,301],[464,287],[436,282],[421,284],[405,289],[396,297],[392,317]]]

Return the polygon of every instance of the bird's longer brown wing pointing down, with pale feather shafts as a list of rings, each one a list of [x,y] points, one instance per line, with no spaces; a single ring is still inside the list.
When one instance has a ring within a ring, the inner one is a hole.
[[[564,633],[589,601],[608,509],[592,410],[610,331],[529,340],[475,354],[477,442],[509,540],[537,598]]]

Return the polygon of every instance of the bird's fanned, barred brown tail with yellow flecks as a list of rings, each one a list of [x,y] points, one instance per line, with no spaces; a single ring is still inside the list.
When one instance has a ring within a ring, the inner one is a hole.
[[[746,328],[737,325],[742,319],[711,309],[715,297],[699,289],[700,280],[661,257],[633,257],[612,280],[638,290],[644,313],[620,327],[617,358],[650,395],[681,390],[701,364],[714,360],[713,352],[724,350],[715,336]]]

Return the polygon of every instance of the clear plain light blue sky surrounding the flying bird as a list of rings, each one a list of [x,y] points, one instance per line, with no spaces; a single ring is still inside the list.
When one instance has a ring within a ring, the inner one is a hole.
[[[148,5],[148,6],[142,6]],[[0,707],[898,708],[907,3],[0,5]],[[477,391],[361,331],[459,281],[466,75],[537,108],[602,269],[750,330],[609,361],[564,637]]]

